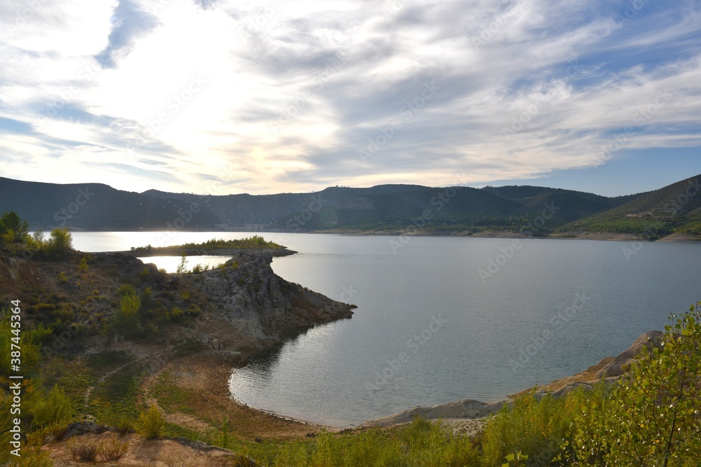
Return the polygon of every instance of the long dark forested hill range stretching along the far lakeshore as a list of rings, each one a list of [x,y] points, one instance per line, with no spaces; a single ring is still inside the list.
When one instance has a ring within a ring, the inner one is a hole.
[[[680,207],[683,214],[674,214],[674,219],[665,211],[685,183],[688,182],[622,197],[539,186],[476,189],[418,185],[336,186],[315,193],[205,196],[158,190],[132,193],[98,183],[60,185],[0,178],[0,212],[14,210],[33,229],[42,230],[66,225],[74,230],[416,229],[471,234],[491,230],[530,232],[536,223],[536,233],[547,235],[557,230],[587,229],[641,232],[641,226],[647,224],[639,218],[653,216],[671,232],[688,227],[692,221],[701,222],[701,203],[697,198]]]

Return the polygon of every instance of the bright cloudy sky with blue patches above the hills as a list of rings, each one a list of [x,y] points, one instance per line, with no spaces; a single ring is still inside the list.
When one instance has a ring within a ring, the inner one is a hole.
[[[601,195],[701,174],[701,0],[0,0],[0,176]]]

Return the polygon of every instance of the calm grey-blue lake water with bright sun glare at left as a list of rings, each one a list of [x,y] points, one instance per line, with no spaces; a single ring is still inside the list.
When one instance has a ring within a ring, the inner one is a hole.
[[[247,235],[73,234],[83,251]],[[277,274],[358,309],[254,358],[233,374],[231,390],[254,407],[334,426],[416,405],[496,400],[572,375],[701,300],[700,244],[638,244],[631,254],[630,242],[528,239],[512,250],[510,239],[264,237],[299,251],[273,260]],[[169,270],[178,260],[146,259]]]

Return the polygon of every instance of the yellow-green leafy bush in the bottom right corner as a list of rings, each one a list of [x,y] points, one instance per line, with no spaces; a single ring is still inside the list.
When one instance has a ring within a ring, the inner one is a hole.
[[[697,465],[701,450],[701,313],[670,316],[661,348],[646,347],[574,445],[584,464]],[[602,407],[603,408],[603,407]]]

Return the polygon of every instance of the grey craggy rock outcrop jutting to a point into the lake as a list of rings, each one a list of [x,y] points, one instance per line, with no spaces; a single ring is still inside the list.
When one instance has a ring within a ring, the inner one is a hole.
[[[289,333],[350,318],[354,305],[292,284],[276,275],[271,252],[242,252],[224,267],[197,274],[196,290],[206,296],[208,312],[223,318],[261,350]],[[226,344],[213,338],[207,344],[222,350]]]

